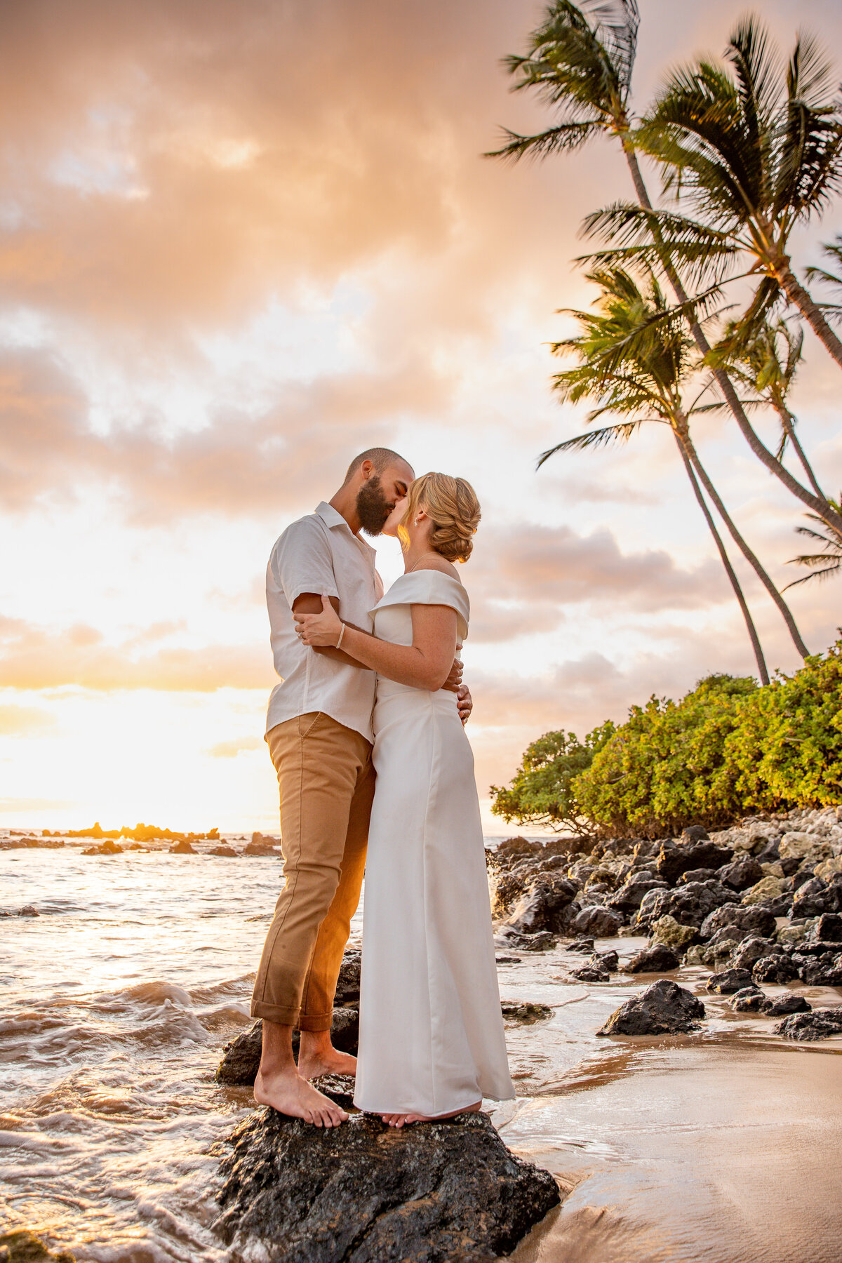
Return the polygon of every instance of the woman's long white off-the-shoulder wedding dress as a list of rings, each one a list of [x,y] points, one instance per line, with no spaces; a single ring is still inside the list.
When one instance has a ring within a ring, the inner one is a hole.
[[[458,580],[403,575],[375,606],[375,635],[412,644],[412,605],[457,611]],[[456,695],[377,678],[377,773],[362,918],[355,1104],[370,1113],[449,1114],[509,1100],[473,755]]]

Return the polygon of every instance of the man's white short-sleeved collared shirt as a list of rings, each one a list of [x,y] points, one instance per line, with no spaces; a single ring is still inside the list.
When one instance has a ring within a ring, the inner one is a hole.
[[[266,606],[280,683],[269,698],[266,733],[288,719],[322,711],[374,740],[375,672],[335,662],[303,645],[295,635],[293,602],[302,592],[337,596],[340,618],[371,632],[369,610],[382,596],[375,557],[374,548],[324,501],[316,513],[287,527],[276,541],[266,567]]]

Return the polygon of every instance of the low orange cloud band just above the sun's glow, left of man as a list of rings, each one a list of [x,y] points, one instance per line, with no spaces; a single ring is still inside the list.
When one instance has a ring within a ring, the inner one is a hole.
[[[0,687],[163,688],[213,692],[217,688],[266,688],[273,677],[268,649],[260,645],[208,644],[168,647],[138,655],[138,637],[106,644],[86,624],[68,629],[34,626],[0,616]]]

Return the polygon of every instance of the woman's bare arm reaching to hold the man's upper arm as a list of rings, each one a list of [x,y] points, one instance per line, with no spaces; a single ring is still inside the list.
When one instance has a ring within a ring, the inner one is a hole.
[[[304,644],[336,647],[341,634],[342,653],[410,688],[434,693],[448,678],[456,654],[456,610],[449,605],[413,605],[413,643],[408,645],[379,640],[348,624],[342,632],[342,621],[329,597],[322,597],[322,614],[295,615]]]

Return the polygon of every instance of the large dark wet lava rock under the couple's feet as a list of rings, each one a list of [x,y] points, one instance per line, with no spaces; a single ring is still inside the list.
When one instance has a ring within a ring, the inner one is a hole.
[[[271,1263],[490,1263],[560,1200],[485,1114],[396,1132],[369,1114],[321,1129],[269,1109],[230,1139],[213,1228],[237,1254],[256,1239]]]

